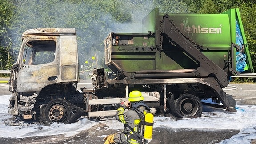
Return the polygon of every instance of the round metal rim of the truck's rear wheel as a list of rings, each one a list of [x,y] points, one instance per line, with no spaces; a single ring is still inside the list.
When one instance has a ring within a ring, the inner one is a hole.
[[[194,116],[198,111],[199,106],[196,100],[192,98],[184,98],[180,101],[179,108],[181,114],[183,114],[184,116]]]

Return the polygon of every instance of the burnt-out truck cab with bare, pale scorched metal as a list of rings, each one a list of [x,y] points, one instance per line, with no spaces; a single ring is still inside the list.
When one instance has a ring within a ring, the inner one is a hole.
[[[27,30],[22,34],[19,56],[11,70],[8,112],[31,119],[35,107],[75,94],[78,80],[75,28]],[[61,104],[58,107],[67,109]]]

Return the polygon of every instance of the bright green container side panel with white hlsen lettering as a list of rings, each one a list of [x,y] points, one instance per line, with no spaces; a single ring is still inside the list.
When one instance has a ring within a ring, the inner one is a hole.
[[[227,15],[169,14],[169,19],[182,33],[197,44],[203,45],[205,49],[219,50],[230,47],[230,28]]]

